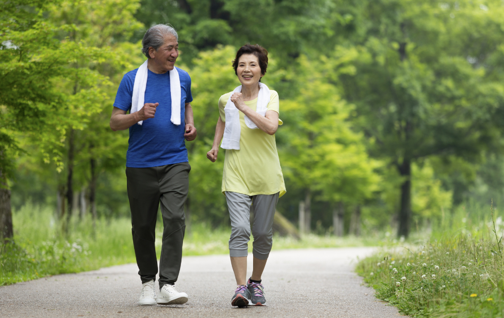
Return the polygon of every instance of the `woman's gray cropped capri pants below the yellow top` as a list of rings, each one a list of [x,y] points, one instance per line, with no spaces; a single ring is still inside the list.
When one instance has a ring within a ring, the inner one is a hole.
[[[253,255],[260,260],[267,260],[273,244],[273,218],[278,203],[278,196],[247,196],[236,192],[225,192],[229,218],[231,219],[231,237],[229,255],[246,257],[250,240],[250,205],[254,211]]]

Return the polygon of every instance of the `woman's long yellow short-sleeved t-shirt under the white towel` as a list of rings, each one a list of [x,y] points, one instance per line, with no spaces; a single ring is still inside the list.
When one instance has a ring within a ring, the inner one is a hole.
[[[268,110],[280,113],[278,93],[270,90]],[[219,98],[219,114],[226,121],[224,107],[232,92]],[[257,98],[245,105],[256,111]],[[222,193],[237,192],[247,196],[285,194],[285,183],[278,159],[275,135],[260,129],[250,129],[245,124],[245,114],[240,113],[240,150],[226,149],[222,173]],[[282,121],[279,120],[282,124]]]

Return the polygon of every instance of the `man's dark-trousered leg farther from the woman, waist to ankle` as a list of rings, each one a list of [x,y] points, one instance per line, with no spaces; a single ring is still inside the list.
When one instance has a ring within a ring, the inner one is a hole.
[[[142,283],[156,279],[155,228],[159,185],[155,168],[126,168],[133,246]]]

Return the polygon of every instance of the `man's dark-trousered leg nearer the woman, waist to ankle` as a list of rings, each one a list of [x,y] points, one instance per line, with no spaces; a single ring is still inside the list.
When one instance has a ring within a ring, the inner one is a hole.
[[[184,203],[189,192],[188,162],[156,167],[160,179],[161,214],[163,216],[163,245],[159,260],[159,288],[174,285],[182,262],[185,234]]]

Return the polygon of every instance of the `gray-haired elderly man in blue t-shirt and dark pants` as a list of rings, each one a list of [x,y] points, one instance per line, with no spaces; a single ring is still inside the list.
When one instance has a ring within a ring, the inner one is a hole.
[[[171,26],[151,27],[142,45],[147,60],[122,78],[110,128],[113,131],[130,129],[126,177],[133,246],[142,279],[139,304],[183,304],[188,300],[187,294],[178,292],[175,282],[182,260],[184,202],[191,170],[184,138],[187,141],[196,138],[191,78],[175,67],[178,35]],[[156,297],[154,281],[158,267],[154,230],[159,202],[164,230]]]

